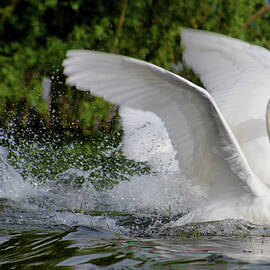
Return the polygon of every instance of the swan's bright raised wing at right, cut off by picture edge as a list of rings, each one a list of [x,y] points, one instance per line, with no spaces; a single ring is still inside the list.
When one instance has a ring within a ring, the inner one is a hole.
[[[251,169],[270,186],[270,52],[202,30],[183,29],[181,36],[185,62],[218,104]]]

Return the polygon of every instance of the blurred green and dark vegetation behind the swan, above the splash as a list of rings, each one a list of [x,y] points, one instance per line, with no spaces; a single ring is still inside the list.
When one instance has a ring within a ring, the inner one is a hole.
[[[73,137],[105,140],[119,130],[117,107],[65,86],[67,50],[115,52],[173,69],[183,51],[181,27],[220,32],[270,49],[269,10],[265,0],[3,0],[0,125],[10,134],[16,123],[13,135],[26,140],[55,132],[68,144]],[[186,68],[183,75],[194,79]],[[43,97],[44,78],[52,81],[49,99]]]

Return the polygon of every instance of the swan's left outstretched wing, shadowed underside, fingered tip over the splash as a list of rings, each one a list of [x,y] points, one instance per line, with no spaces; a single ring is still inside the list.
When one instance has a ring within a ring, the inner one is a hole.
[[[74,50],[64,61],[67,83],[164,122],[187,177],[219,194],[261,191],[242,152],[204,89],[129,57]]]

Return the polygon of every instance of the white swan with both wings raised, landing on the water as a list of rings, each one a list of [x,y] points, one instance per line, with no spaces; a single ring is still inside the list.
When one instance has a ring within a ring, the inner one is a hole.
[[[203,30],[182,29],[184,61],[207,90],[131,57],[70,50],[67,84],[154,113],[168,131],[179,167],[206,190],[192,220],[243,218],[270,223],[270,53]],[[204,212],[202,214],[202,212]]]

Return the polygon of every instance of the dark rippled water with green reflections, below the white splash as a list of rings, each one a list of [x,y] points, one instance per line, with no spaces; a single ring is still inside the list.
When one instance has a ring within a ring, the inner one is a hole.
[[[142,239],[76,227],[1,237],[3,269],[269,269],[270,241],[260,237]]]

